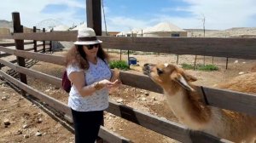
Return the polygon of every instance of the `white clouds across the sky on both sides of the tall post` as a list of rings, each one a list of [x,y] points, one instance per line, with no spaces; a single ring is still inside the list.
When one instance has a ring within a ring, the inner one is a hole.
[[[207,29],[227,29],[237,26],[255,26],[256,23],[256,1],[255,0],[183,0],[184,3],[189,3],[186,7],[177,8],[162,8],[160,13],[147,11],[150,17],[137,17],[142,14],[132,15],[111,15],[111,9],[105,6],[105,14],[107,19],[108,31],[129,31],[133,28],[145,28],[154,26],[161,21],[170,21],[174,25],[181,28],[202,28],[202,18],[206,18]],[[164,3],[164,2],[163,2]],[[41,11],[49,4],[66,4],[68,10],[55,14],[42,14]],[[72,26],[81,21],[75,18],[76,10],[82,8],[85,10],[85,1],[77,0],[9,0],[0,5],[0,19],[12,20],[11,13],[14,11],[20,12],[21,24],[24,26],[35,26],[39,21],[47,19],[61,20],[63,24]],[[177,12],[190,13],[191,17],[173,16],[163,14],[168,10]],[[103,16],[102,16],[103,22]],[[104,28],[104,24],[102,25]]]

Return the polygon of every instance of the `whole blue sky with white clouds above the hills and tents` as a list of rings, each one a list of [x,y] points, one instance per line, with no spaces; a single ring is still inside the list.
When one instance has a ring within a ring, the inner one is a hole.
[[[256,27],[255,0],[102,1],[108,31],[144,29],[160,22],[198,29],[203,27],[204,18],[207,29]],[[85,0],[9,0],[0,5],[0,20],[11,20],[11,13],[18,11],[24,26],[73,26],[86,23],[85,8]]]

